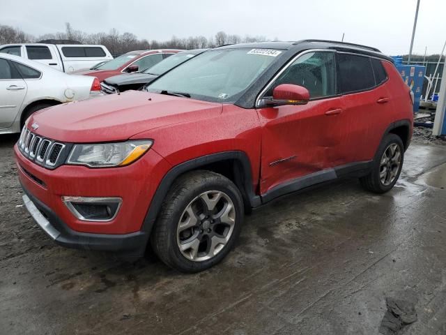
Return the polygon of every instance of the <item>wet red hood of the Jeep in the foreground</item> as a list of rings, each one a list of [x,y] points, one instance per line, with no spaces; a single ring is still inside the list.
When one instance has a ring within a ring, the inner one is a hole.
[[[221,112],[221,103],[125,91],[49,107],[34,113],[27,126],[37,125],[38,135],[63,142],[109,142]]]

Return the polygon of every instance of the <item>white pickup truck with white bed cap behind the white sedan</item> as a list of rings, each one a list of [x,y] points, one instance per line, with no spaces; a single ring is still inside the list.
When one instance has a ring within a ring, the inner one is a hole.
[[[72,73],[113,59],[104,45],[24,43],[0,46],[0,52],[38,61],[56,70]]]

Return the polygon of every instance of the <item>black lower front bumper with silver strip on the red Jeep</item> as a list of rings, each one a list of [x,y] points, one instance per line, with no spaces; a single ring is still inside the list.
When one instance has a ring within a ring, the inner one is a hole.
[[[91,234],[75,232],[70,229],[52,209],[34,197],[23,187],[23,201],[36,223],[57,244],[68,248],[95,251],[118,251],[127,258],[139,258],[144,255],[148,235],[145,232],[130,234]]]

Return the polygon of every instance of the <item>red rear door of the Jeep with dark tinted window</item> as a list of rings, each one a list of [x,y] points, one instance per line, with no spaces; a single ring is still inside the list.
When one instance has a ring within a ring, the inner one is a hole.
[[[385,70],[378,59],[337,53],[337,88],[342,95],[342,139],[334,165],[369,161],[374,157],[392,104]],[[378,71],[384,71],[378,72]]]

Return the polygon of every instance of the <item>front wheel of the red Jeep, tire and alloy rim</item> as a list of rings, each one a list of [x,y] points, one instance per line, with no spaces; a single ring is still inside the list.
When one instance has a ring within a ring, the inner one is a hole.
[[[151,234],[151,246],[169,267],[185,273],[220,262],[243,224],[243,200],[233,182],[197,170],[178,177],[167,194]]]

